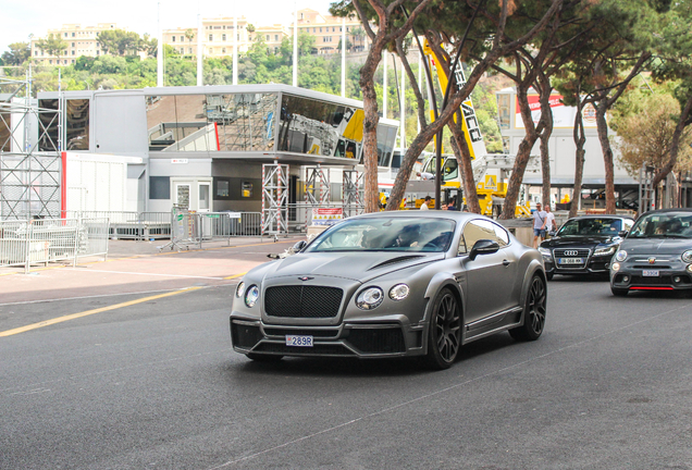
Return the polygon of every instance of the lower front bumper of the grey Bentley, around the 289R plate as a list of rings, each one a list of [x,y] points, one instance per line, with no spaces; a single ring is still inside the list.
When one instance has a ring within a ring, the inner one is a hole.
[[[391,358],[423,354],[424,325],[400,318],[376,322],[344,322],[338,326],[267,324],[262,320],[231,316],[233,349],[242,354],[297,357]],[[286,345],[286,335],[309,335],[312,347]]]

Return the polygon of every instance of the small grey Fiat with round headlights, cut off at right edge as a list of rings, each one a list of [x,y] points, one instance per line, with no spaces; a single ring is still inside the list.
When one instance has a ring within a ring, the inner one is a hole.
[[[692,209],[642,214],[613,258],[610,290],[692,290]]]

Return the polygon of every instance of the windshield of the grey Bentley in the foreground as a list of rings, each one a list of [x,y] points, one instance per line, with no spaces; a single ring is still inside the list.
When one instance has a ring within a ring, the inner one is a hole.
[[[456,223],[447,219],[347,220],[322,233],[306,251],[433,251],[449,249]]]

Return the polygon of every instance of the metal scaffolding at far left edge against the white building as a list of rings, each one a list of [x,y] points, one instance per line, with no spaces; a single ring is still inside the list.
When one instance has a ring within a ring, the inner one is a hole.
[[[1,220],[61,217],[62,100],[39,108],[30,84],[0,77]]]

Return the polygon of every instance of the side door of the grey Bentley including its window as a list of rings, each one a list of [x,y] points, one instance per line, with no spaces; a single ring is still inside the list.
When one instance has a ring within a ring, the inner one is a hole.
[[[503,264],[506,253],[501,248],[495,253],[469,258],[473,244],[480,239],[497,242],[495,224],[486,219],[473,219],[464,226],[459,245],[460,270],[458,276],[466,277],[466,324],[502,311],[507,304],[507,267]],[[506,243],[504,244],[507,245]],[[502,245],[501,245],[502,247]],[[514,263],[516,265],[516,262]]]

